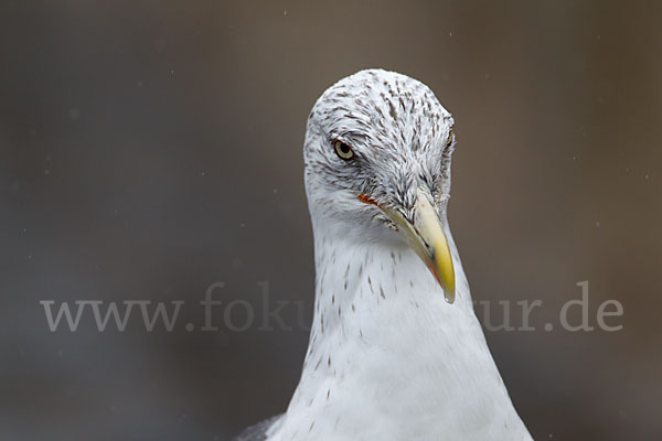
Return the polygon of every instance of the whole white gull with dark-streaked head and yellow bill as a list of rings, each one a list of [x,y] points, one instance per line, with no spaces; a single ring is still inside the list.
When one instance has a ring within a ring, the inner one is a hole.
[[[366,69],[308,118],[314,316],[287,411],[237,441],[531,440],[450,233],[453,119],[423,83]]]

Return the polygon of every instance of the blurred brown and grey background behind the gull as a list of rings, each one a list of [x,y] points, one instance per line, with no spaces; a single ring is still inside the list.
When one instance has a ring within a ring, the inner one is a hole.
[[[311,320],[306,118],[375,66],[456,118],[450,220],[476,300],[494,322],[498,301],[543,301],[536,331],[487,332],[535,439],[662,435],[660,2],[0,9],[0,439],[227,440],[282,411]],[[590,324],[615,299],[622,330],[546,331],[585,280]],[[264,282],[285,326],[263,326]],[[172,332],[138,306],[99,332],[89,304],[51,332],[49,300],[185,303]]]

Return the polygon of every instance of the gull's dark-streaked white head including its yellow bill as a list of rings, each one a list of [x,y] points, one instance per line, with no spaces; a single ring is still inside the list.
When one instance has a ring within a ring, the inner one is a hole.
[[[406,75],[361,71],[327,89],[308,118],[306,191],[313,227],[354,241],[405,244],[455,300],[447,240],[453,120]]]

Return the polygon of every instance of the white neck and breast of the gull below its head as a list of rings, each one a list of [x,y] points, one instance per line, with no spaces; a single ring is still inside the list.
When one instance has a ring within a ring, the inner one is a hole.
[[[310,343],[269,440],[531,439],[473,313],[448,228],[453,304],[404,244],[359,243],[313,227]]]

